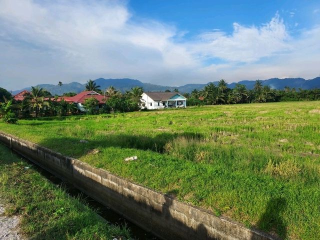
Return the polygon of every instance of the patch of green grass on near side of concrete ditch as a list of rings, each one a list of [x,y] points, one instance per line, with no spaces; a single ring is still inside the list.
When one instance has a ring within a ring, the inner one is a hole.
[[[0,200],[6,214],[19,214],[28,239],[113,239],[129,237],[79,199],[70,197],[0,144]]]

